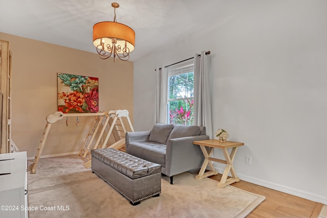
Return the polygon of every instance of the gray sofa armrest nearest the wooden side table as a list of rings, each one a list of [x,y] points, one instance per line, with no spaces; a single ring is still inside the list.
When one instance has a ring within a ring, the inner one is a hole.
[[[166,175],[173,176],[200,167],[204,156],[193,141],[207,140],[207,135],[168,139],[166,149]]]

